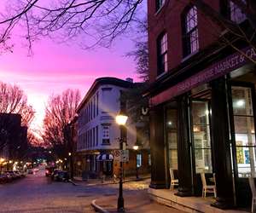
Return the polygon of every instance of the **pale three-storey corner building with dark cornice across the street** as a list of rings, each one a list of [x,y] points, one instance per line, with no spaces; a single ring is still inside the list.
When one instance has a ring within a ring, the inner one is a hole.
[[[76,167],[80,172],[86,171],[91,176],[118,175],[119,163],[113,156],[114,150],[119,150],[119,125],[115,116],[120,111],[120,94],[135,86],[132,79],[97,78],[90,87],[84,100],[80,103],[77,113],[78,142]],[[128,115],[129,116],[129,115]],[[137,127],[131,119],[127,121],[127,147],[129,162],[125,163],[125,174],[134,175],[136,165],[139,173],[147,173],[149,169],[149,147],[143,147],[139,152],[132,148],[137,142]]]

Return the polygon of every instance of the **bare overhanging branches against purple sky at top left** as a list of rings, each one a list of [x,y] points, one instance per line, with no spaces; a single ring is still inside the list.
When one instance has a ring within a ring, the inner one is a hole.
[[[87,36],[86,47],[109,46],[136,21],[142,3],[143,0],[12,0],[8,2],[8,11],[1,13],[0,43],[3,49],[10,49],[12,32],[21,25],[26,29],[24,37],[29,48],[38,37],[69,40],[79,35]]]

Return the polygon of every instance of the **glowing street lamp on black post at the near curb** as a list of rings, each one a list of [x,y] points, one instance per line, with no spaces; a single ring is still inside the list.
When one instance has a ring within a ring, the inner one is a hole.
[[[126,121],[128,117],[125,114],[119,113],[116,116],[115,121],[120,127],[119,149],[124,150],[124,143],[126,142]],[[125,202],[123,197],[123,162],[120,160],[120,172],[119,172],[119,198],[118,198],[118,212],[125,212]]]

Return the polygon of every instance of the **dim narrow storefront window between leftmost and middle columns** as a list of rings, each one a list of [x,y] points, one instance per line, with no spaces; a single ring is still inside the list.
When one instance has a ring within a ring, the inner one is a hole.
[[[166,139],[170,168],[177,170],[177,109],[166,110]]]

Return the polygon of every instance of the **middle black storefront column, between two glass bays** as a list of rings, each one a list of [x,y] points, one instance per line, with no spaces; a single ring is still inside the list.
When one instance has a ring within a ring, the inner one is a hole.
[[[188,95],[177,97],[177,196],[192,195],[192,172],[189,140],[189,101]]]

